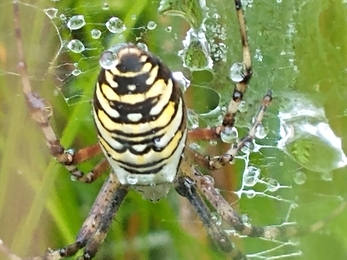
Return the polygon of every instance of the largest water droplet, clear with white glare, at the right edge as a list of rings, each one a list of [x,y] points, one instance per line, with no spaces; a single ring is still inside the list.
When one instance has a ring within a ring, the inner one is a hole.
[[[321,173],[347,165],[341,138],[326,123],[322,108],[304,97],[290,97],[279,119],[281,139],[277,147],[299,165]]]

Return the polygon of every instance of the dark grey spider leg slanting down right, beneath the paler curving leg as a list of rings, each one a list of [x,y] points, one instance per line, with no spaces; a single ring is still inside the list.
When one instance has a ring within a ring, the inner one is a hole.
[[[186,174],[187,172],[184,173]],[[225,231],[213,221],[211,211],[198,194],[197,187],[190,177],[178,176],[175,182],[175,189],[178,194],[188,199],[213,241],[215,241],[223,251],[227,252],[233,260],[247,259],[245,255],[233,246]]]

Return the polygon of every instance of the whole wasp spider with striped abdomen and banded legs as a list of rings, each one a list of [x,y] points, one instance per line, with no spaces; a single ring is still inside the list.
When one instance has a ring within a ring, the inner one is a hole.
[[[232,127],[238,104],[252,76],[251,55],[246,37],[241,1],[235,0],[243,50],[244,78],[236,83],[232,99],[220,126],[210,129],[187,129],[187,113],[181,89],[169,68],[157,57],[135,45],[119,45],[105,52],[103,58],[115,57],[112,66],[100,71],[93,99],[93,115],[99,143],[77,152],[64,149],[49,124],[50,113],[41,97],[34,93],[28,80],[24,62],[18,6],[14,3],[20,74],[23,92],[33,119],[40,125],[51,154],[71,175],[81,182],[93,182],[111,167],[96,201],[82,225],[77,239],[58,250],[49,250],[42,257],[28,259],[57,260],[75,255],[83,249],[79,259],[92,259],[105,240],[107,231],[129,189],[141,192],[144,198],[156,201],[173,187],[188,199],[206,227],[211,238],[231,259],[247,259],[230,242],[226,232],[212,220],[205,200],[231,225],[236,232],[250,237],[274,239],[291,237],[314,231],[324,221],[308,228],[297,226],[246,225],[229,203],[217,192],[210,176],[202,175],[194,166],[215,170],[229,163],[239,150],[252,141],[257,126],[271,102],[268,92],[247,136],[233,145],[224,155],[207,157],[187,146],[196,139],[219,138]],[[103,159],[89,173],[76,167],[79,163],[103,153]],[[183,156],[184,155],[184,156]],[[345,205],[335,211],[338,214]],[[6,251],[3,246],[0,246]],[[8,251],[6,251],[8,252]],[[8,253],[11,259],[21,259]]]

